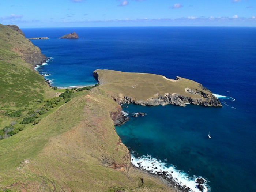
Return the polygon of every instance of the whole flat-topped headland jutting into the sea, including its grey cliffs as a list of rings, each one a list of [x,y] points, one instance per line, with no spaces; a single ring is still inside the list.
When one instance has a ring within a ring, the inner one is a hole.
[[[101,88],[119,104],[186,106],[190,103],[222,106],[218,98],[202,84],[181,77],[174,80],[161,75],[99,69],[94,71],[94,76]]]

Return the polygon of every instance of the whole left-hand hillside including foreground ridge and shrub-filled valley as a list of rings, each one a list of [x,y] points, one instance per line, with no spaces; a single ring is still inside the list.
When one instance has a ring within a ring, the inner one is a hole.
[[[172,191],[131,166],[105,91],[52,90],[33,70],[39,49],[0,32],[0,191]]]

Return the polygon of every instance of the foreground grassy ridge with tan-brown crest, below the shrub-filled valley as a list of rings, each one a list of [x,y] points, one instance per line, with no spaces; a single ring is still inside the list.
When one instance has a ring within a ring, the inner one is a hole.
[[[118,186],[170,191],[157,179],[130,167],[128,150],[119,142],[109,115],[118,107],[94,88],[39,124],[0,141],[0,188],[108,191]],[[143,185],[140,178],[144,178]]]

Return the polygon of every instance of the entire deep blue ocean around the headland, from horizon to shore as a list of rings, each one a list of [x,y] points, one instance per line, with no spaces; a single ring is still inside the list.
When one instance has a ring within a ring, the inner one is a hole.
[[[116,131],[133,161],[162,162],[188,182],[203,177],[212,192],[256,191],[256,28],[22,30],[27,38],[49,37],[31,41],[51,57],[37,70],[53,86],[95,84],[95,69],[114,69],[181,76],[222,95],[222,108],[124,106],[131,119]],[[74,31],[79,39],[58,39]]]

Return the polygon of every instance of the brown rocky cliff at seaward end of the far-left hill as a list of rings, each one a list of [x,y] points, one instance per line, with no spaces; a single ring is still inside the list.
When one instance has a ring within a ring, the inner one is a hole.
[[[12,45],[12,51],[18,53],[19,56],[25,60],[26,63],[31,64],[31,68],[44,61],[45,55],[41,53],[41,50],[33,45],[28,39],[25,38],[23,32],[16,25],[6,25],[12,29],[12,33],[5,33],[3,37],[4,41],[9,42]]]

